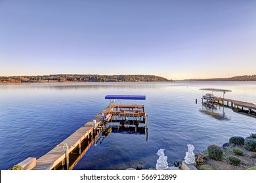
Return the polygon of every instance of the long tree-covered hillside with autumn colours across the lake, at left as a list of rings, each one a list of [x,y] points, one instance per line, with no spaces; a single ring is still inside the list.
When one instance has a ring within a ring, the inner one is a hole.
[[[166,78],[154,75],[44,75],[0,76],[0,83],[23,82],[161,82]]]

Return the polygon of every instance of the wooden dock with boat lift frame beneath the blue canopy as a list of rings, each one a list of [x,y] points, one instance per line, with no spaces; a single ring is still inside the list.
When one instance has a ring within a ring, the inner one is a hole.
[[[102,119],[102,113],[111,114],[108,119]],[[26,169],[51,170],[51,169],[73,169],[79,159],[89,150],[94,140],[112,120],[112,117],[125,120],[136,120],[137,123],[145,123],[146,113],[144,105],[108,105],[100,113],[77,129],[67,139],[56,145],[47,154],[38,159],[28,158],[19,164]],[[142,119],[142,120],[141,120]],[[137,127],[137,125],[136,125]],[[32,161],[33,160],[33,161]]]

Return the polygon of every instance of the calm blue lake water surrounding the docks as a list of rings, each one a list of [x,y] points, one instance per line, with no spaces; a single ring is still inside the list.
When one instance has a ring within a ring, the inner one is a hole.
[[[148,141],[145,134],[112,132],[102,144],[91,146],[75,169],[154,168],[160,148],[171,164],[184,158],[187,144],[200,152],[232,136],[256,133],[255,117],[203,107],[200,88],[229,89],[226,98],[256,103],[256,82],[0,85],[0,169],[49,152],[106,108],[108,94],[146,95],[146,101],[137,103],[145,105],[149,116]]]

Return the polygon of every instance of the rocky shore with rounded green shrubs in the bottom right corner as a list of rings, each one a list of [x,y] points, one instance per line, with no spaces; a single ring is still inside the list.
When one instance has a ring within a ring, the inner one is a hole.
[[[256,169],[256,134],[250,137],[231,137],[223,146],[210,145],[207,150],[195,155],[193,167],[198,170],[246,170]],[[174,166],[184,169],[183,159],[174,161]],[[189,165],[190,166],[190,165]],[[187,165],[185,165],[186,168]],[[191,169],[191,168],[190,168]]]

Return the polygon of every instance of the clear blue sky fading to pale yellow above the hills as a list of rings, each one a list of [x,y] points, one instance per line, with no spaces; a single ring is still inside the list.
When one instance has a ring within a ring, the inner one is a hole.
[[[0,76],[256,74],[255,0],[0,0]]]

